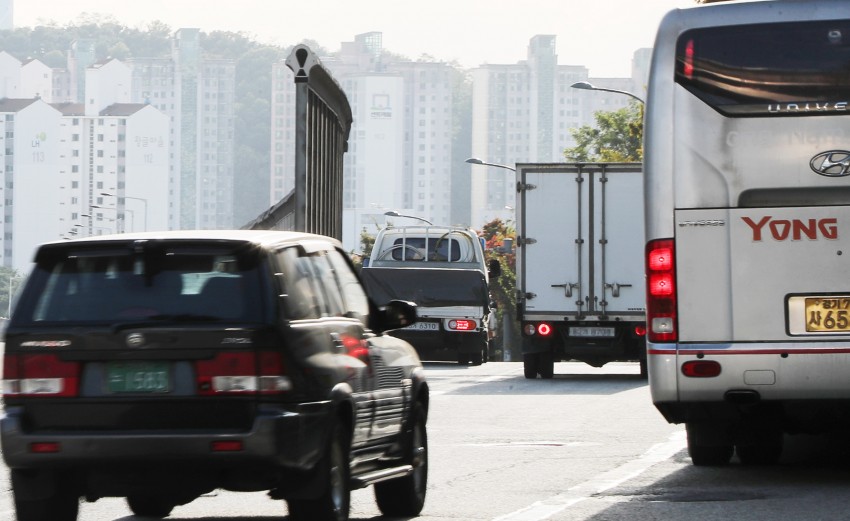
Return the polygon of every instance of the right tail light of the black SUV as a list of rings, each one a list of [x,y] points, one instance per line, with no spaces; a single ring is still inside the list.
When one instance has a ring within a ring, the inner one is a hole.
[[[292,389],[277,351],[218,353],[195,364],[199,394],[279,394]]]

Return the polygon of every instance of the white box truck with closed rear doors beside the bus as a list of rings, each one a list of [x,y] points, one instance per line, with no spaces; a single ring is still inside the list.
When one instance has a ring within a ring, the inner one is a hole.
[[[526,378],[554,363],[646,375],[640,163],[517,164],[517,317]]]

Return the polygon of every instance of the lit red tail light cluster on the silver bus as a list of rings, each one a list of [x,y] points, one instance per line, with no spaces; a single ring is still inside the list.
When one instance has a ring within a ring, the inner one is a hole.
[[[650,342],[676,342],[676,262],[673,239],[646,245],[646,323]]]

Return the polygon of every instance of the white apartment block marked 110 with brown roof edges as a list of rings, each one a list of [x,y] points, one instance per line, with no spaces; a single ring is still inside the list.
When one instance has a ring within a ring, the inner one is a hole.
[[[65,236],[169,229],[168,118],[129,103],[130,78],[118,60],[97,63],[85,103],[55,105]]]

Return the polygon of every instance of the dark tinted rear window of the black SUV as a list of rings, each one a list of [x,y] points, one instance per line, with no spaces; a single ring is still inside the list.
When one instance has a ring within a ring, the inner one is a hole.
[[[28,298],[15,312],[19,325],[261,318],[255,255],[168,248],[63,253],[37,263]]]

